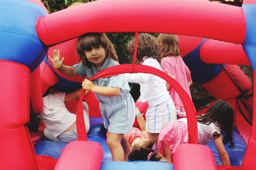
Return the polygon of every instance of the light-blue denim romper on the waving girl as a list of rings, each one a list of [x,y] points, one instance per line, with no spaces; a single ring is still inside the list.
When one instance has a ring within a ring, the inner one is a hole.
[[[87,67],[83,66],[82,63],[79,63],[75,64],[73,67],[80,76],[91,78],[102,69],[116,65],[119,65],[119,63],[113,59],[107,58],[99,70],[97,70],[93,64],[92,67]],[[93,80],[93,83],[99,86],[120,89],[120,94],[118,94],[118,96],[102,96],[100,94],[95,94],[100,103],[100,113],[104,120],[104,127],[113,134],[125,134],[131,132],[135,120],[135,104],[129,93],[131,89],[124,78],[124,74],[108,78],[99,78]]]

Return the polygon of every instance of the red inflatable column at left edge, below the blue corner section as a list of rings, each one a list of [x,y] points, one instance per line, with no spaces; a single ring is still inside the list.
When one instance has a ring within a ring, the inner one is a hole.
[[[29,121],[29,77],[27,66],[0,60],[0,169],[36,169]]]

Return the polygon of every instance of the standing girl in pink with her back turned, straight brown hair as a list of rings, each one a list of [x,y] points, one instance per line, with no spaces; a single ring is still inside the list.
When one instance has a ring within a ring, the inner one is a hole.
[[[191,97],[189,90],[189,87],[192,85],[191,73],[188,66],[186,66],[185,62],[180,57],[178,36],[174,34],[159,34],[157,41],[162,57],[161,68],[164,73],[172,76]],[[177,94],[170,84],[167,83],[166,87],[175,104],[177,116],[186,117],[184,105],[179,94]]]

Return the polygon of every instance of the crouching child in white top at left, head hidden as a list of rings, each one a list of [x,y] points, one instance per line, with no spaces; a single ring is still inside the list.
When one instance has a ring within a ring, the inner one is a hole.
[[[77,139],[76,115],[70,113],[65,105],[65,101],[79,99],[81,89],[66,94],[64,92],[45,93],[44,109],[40,118],[45,124],[44,135],[52,141],[70,142]],[[90,129],[88,115],[88,105],[83,102],[84,124],[86,131]]]

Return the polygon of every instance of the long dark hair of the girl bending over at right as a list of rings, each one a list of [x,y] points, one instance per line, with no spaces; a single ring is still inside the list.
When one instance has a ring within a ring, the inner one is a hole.
[[[235,147],[233,138],[234,110],[229,103],[223,100],[216,101],[204,115],[197,118],[197,121],[205,125],[213,123],[220,127],[221,134],[224,136],[224,145],[229,143],[229,148]]]

